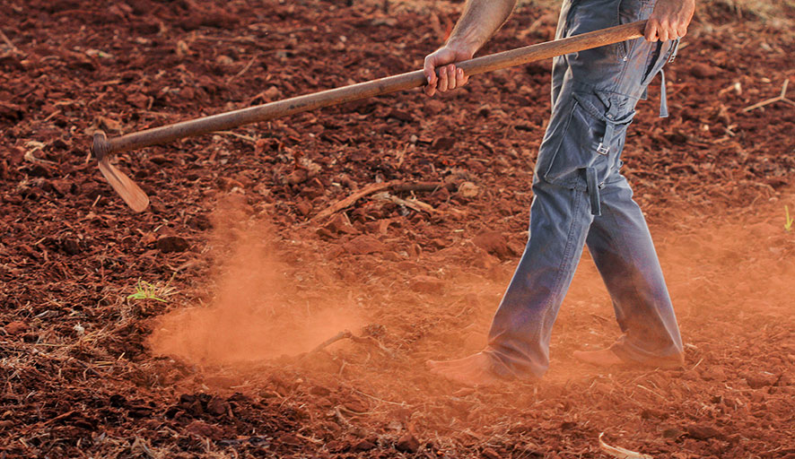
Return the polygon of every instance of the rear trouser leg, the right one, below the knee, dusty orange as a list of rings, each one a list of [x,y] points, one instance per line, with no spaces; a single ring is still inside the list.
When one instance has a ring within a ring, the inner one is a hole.
[[[624,336],[614,350],[642,362],[682,353],[677,317],[641,208],[626,178],[601,190],[602,214],[590,225],[590,255],[610,292]]]

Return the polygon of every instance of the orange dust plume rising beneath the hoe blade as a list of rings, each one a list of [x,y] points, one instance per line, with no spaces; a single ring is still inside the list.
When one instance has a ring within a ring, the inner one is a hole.
[[[361,325],[330,287],[313,285],[303,293],[293,284],[264,221],[249,220],[233,205],[216,211],[213,220],[214,295],[208,305],[159,317],[149,339],[153,353],[205,365],[244,363],[310,351]]]

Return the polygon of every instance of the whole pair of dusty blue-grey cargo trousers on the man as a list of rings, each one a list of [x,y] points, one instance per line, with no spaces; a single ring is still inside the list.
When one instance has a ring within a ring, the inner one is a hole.
[[[564,0],[557,37],[645,19],[652,8],[648,0]],[[616,349],[634,360],[681,351],[642,212],[624,178],[616,179],[635,104],[672,48],[637,39],[555,58],[529,241],[485,350],[495,373],[544,374],[552,326],[586,240],[627,333]]]

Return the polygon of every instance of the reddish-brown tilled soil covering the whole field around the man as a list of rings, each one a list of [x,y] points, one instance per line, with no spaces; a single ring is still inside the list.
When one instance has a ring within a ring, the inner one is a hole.
[[[573,458],[604,432],[654,457],[795,457],[795,107],[743,110],[795,83],[795,12],[701,5],[672,116],[652,88],[627,140],[686,368],[571,358],[618,334],[586,255],[547,377],[475,391],[423,362],[485,343],[527,238],[548,62],[122,154],[140,214],[88,156],[96,128],[419,68],[460,8],[350,3],[2,2],[2,455]],[[554,23],[524,4],[484,52]],[[448,186],[401,191],[418,182]]]

